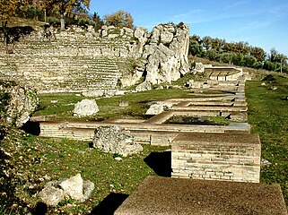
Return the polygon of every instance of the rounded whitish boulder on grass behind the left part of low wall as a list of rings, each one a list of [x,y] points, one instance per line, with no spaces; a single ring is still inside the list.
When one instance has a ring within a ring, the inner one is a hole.
[[[94,99],[83,99],[75,104],[73,116],[93,116],[99,111]]]

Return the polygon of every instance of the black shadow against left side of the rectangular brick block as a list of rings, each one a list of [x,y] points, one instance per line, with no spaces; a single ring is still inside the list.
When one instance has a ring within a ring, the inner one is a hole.
[[[158,176],[171,176],[171,151],[151,152],[144,162],[153,169]]]

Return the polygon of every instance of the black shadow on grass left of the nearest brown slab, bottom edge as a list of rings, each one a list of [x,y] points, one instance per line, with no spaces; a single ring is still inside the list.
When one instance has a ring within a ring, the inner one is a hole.
[[[128,196],[128,194],[123,193],[109,193],[109,195],[100,202],[89,215],[113,215]]]

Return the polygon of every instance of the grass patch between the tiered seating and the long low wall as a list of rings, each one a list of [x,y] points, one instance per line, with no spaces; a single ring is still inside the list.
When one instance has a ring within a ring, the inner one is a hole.
[[[112,98],[97,99],[97,105],[100,111],[96,116],[87,118],[77,118],[72,116],[74,104],[83,97],[76,97],[74,94],[63,95],[41,95],[39,98],[39,110],[34,116],[51,116],[53,119],[72,119],[72,120],[100,120],[111,117],[144,117],[146,110],[149,108],[149,101],[171,99],[171,98],[192,98],[194,97],[189,91],[170,89],[170,90],[150,90],[137,93],[129,93],[123,96]],[[57,99],[56,104],[51,100]],[[119,107],[121,101],[128,101],[128,107]]]

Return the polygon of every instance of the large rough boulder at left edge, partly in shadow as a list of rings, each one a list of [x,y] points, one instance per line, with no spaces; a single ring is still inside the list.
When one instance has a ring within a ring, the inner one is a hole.
[[[21,127],[38,105],[36,90],[16,82],[0,81],[0,121]]]

